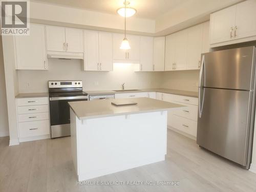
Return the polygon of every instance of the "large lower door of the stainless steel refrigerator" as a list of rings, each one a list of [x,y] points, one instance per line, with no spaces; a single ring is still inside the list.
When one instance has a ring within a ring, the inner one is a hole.
[[[197,143],[241,165],[246,165],[247,160],[249,93],[204,88],[202,113],[198,118]]]

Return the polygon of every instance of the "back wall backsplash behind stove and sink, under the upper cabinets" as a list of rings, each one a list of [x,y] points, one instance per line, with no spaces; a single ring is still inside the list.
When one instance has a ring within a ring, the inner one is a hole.
[[[82,80],[86,90],[161,87],[159,72],[134,72],[136,64],[114,64],[112,72],[84,72],[80,60],[49,59],[48,71],[18,70],[19,93],[48,92],[48,80]],[[28,86],[29,83],[29,86]]]

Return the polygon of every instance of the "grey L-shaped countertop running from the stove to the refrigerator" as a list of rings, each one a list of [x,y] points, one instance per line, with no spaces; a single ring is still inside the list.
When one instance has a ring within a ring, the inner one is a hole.
[[[188,97],[198,97],[198,92],[194,91],[184,91],[184,90],[174,90],[174,89],[139,89],[139,91],[124,91],[124,92],[116,92],[112,90],[102,90],[102,91],[86,91],[88,95],[101,95],[101,94],[116,94],[116,93],[138,93],[138,92],[160,92],[160,93],[168,93],[174,95],[183,95]]]

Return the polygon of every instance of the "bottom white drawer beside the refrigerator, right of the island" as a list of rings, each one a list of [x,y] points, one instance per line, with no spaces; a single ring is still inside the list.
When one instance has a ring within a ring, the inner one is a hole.
[[[177,115],[168,115],[168,126],[197,137],[197,121],[179,117]]]

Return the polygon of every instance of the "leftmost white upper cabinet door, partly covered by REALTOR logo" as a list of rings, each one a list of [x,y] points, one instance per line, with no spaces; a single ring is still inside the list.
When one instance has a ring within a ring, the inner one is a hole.
[[[15,36],[17,69],[47,70],[45,26],[30,24],[30,35]]]

